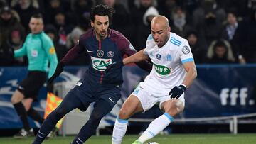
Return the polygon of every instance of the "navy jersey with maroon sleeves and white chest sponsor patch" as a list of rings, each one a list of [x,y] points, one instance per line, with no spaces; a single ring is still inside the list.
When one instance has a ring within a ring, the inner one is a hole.
[[[97,40],[94,29],[90,29],[80,36],[78,44],[72,49],[61,61],[64,64],[70,62],[86,50],[91,62],[85,77],[90,82],[100,84],[122,84],[122,68],[112,69],[106,74],[106,66],[122,60],[124,55],[130,56],[137,52],[122,33],[112,29],[108,29],[107,38],[104,40]],[[150,65],[144,62],[142,67]]]

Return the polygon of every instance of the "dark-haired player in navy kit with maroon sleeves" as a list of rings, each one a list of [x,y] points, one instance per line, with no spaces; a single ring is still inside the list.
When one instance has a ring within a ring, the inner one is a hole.
[[[95,133],[100,120],[117,104],[123,82],[122,68],[105,72],[106,66],[121,61],[125,54],[133,55],[136,50],[122,33],[108,28],[113,11],[114,9],[106,5],[95,6],[90,13],[92,29],[81,35],[78,44],[58,63],[53,77],[48,80],[49,83],[58,77],[64,65],[75,60],[83,51],[86,50],[91,58],[89,68],[82,79],[68,92],[60,106],[46,118],[33,144],[42,143],[66,113],[75,108],[86,111],[88,106],[95,102],[89,120],[73,140],[73,144],[85,143]],[[151,70],[149,62],[138,62],[137,65],[144,70]]]

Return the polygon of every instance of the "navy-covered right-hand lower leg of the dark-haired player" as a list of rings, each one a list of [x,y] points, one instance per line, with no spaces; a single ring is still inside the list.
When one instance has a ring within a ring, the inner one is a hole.
[[[100,101],[95,102],[94,109],[90,115],[87,123],[82,126],[80,132],[73,140],[72,144],[82,144],[85,143],[93,134],[97,127],[99,126],[100,120],[112,110],[112,106],[105,101],[104,99],[100,99]]]

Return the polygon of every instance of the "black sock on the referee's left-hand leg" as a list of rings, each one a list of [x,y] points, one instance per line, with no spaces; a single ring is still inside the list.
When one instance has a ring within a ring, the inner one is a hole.
[[[25,109],[24,105],[22,104],[22,102],[14,104],[14,109],[18,113],[19,118],[21,118],[21,121],[22,121],[22,124],[23,124],[23,128],[26,131],[29,131],[30,130],[30,126],[29,126],[29,123],[28,123],[28,115],[26,113],[26,109]]]

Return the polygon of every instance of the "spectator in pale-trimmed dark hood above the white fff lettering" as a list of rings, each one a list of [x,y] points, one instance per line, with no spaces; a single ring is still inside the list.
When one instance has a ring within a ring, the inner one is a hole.
[[[233,50],[227,40],[214,40],[208,48],[208,63],[228,64],[235,62]]]

